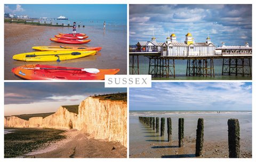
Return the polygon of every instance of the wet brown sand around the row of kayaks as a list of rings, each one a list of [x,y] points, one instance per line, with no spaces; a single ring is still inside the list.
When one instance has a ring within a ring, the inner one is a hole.
[[[53,42],[58,33],[70,33],[71,27],[42,27],[36,25],[4,23],[4,79],[19,80],[11,70],[13,67],[43,64],[78,68],[120,69],[118,74],[127,74],[126,32],[97,30],[93,27],[80,27],[77,32],[86,33],[91,41],[88,44],[71,45]],[[23,62],[15,61],[12,56],[20,53],[37,52],[33,46],[75,46],[102,47],[95,56],[70,59],[61,62]]]

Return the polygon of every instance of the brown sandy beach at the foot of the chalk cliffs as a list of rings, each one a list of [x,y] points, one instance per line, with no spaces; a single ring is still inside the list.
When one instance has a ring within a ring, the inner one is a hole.
[[[23,156],[25,158],[126,158],[127,149],[118,142],[95,140],[89,134],[71,130],[67,139]]]

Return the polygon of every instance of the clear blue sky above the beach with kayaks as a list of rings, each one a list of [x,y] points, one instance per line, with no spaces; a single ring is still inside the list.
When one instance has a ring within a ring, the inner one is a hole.
[[[58,18],[77,20],[125,20],[126,4],[5,4],[4,12],[28,15],[29,18]]]

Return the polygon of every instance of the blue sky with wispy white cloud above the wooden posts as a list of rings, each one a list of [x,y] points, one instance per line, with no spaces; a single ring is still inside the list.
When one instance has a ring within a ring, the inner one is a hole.
[[[130,110],[252,110],[252,83],[152,82],[129,99]]]

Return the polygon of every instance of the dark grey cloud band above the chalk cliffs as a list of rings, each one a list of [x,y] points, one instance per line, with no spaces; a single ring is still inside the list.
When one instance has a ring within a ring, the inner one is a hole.
[[[126,88],[104,88],[104,83],[41,83],[8,82],[4,84],[4,104],[29,104],[41,101],[61,101],[58,97],[126,92]],[[57,98],[54,98],[57,96]],[[84,98],[85,99],[85,98]],[[70,98],[75,100],[75,98]]]

